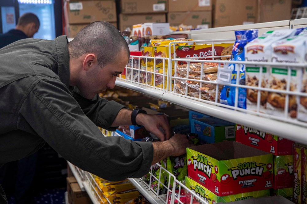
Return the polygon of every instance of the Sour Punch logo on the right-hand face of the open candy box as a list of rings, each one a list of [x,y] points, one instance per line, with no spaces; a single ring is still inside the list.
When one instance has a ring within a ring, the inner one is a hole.
[[[244,162],[243,164],[238,164],[238,166],[228,169],[228,171],[231,171],[233,180],[236,180],[238,176],[261,176],[264,169],[262,166],[265,165],[262,163],[257,164],[255,161]]]

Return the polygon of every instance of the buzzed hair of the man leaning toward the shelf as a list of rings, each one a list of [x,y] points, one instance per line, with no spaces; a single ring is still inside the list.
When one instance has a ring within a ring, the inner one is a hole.
[[[128,44],[119,30],[105,21],[96,21],[84,27],[68,43],[68,48],[72,59],[87,53],[95,54],[100,67],[115,63],[122,50],[126,56],[130,55]]]

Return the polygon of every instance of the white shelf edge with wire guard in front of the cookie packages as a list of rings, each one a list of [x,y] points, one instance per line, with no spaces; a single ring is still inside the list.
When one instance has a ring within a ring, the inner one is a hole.
[[[227,39],[228,41],[229,39]],[[212,46],[213,46],[213,41],[212,40]],[[220,41],[220,40],[218,40]],[[182,41],[182,42],[191,42],[191,41]],[[192,41],[193,42],[193,41]],[[196,41],[199,42],[199,41]],[[208,42],[208,40],[205,41],[206,43]],[[171,44],[170,43],[170,47],[169,47],[169,52],[171,49]],[[213,49],[213,48],[212,48]],[[170,55],[169,55],[170,56]],[[126,76],[127,76],[127,69],[131,70],[131,73],[135,73],[135,75],[138,75],[138,77],[136,77],[136,79],[140,79],[142,77],[142,73],[143,73],[143,78],[145,76],[147,76],[148,74],[152,74],[153,75],[153,79],[156,78],[157,73],[154,72],[149,72],[146,70],[141,70],[140,69],[140,64],[141,64],[141,59],[142,57],[136,57],[134,56],[135,59],[138,58],[139,60],[139,67],[126,67]],[[214,57],[218,57],[218,56],[214,56]],[[147,61],[148,58],[153,58],[153,60],[155,61],[155,57],[146,57]],[[221,65],[224,64],[224,66],[228,66],[230,64],[230,61],[221,61],[221,60],[197,60],[197,59],[191,59],[190,58],[175,58],[175,59],[171,59],[171,58],[166,58],[166,60],[168,60],[169,65],[171,65],[172,61],[175,61],[175,75],[177,72],[177,61],[182,61],[185,60],[186,62],[188,62],[187,67],[189,67],[189,64],[192,62],[199,62],[199,63],[215,63],[218,64],[218,69],[221,70],[223,69]],[[144,58],[145,61],[145,58]],[[282,67],[284,69],[288,70],[288,76],[287,76],[287,81],[291,81],[291,69],[296,69],[298,70],[298,72],[302,71],[302,69],[307,67],[307,64],[301,63],[301,64],[282,64],[282,63],[272,63],[272,62],[245,62],[245,61],[231,61],[232,64],[238,64],[238,65],[248,65],[251,67],[261,67],[261,69],[263,69],[263,67]],[[153,68],[155,69],[155,68]],[[165,69],[166,70],[166,69]],[[170,72],[171,69],[169,69]],[[237,71],[237,76],[239,76],[239,70]],[[297,97],[300,96],[304,96],[307,97],[306,93],[301,93],[300,91],[290,91],[290,83],[288,83],[288,87],[287,90],[281,91],[281,90],[276,90],[276,89],[269,89],[269,88],[262,88],[260,87],[260,84],[258,84],[258,87],[249,87],[246,85],[240,85],[239,84],[239,80],[237,80],[237,84],[228,84],[222,81],[210,81],[210,84],[213,84],[214,86],[216,86],[216,90],[218,90],[218,86],[224,86],[224,85],[229,85],[232,87],[236,88],[236,105],[235,107],[233,106],[228,106],[228,105],[224,105],[218,102],[218,92],[216,92],[216,97],[215,100],[213,101],[208,101],[208,100],[204,100],[199,98],[193,98],[186,95],[181,95],[178,93],[175,93],[174,90],[172,90],[172,87],[169,86],[169,84],[176,84],[176,80],[192,80],[192,81],[197,81],[198,83],[209,83],[208,80],[193,80],[193,79],[187,79],[187,78],[179,78],[179,77],[169,77],[171,75],[171,73],[163,73],[162,74],[165,79],[169,79],[168,81],[165,80],[165,88],[164,89],[157,89],[155,88],[155,86],[149,86],[146,83],[141,83],[139,80],[135,81],[132,80],[131,78],[133,78],[132,76],[127,76],[126,79],[122,79],[120,78],[121,76],[118,77],[118,80],[116,80],[115,84],[117,86],[120,87],[125,87],[128,89],[132,89],[134,91],[138,91],[142,94],[146,94],[146,95],[150,95],[159,99],[162,99],[164,101],[168,101],[183,107],[186,107],[188,109],[192,109],[195,111],[198,111],[200,113],[204,113],[213,117],[217,117],[226,121],[230,121],[233,123],[237,123],[237,124],[241,124],[244,126],[248,126],[251,128],[255,128],[261,131],[265,131],[265,132],[270,132],[271,134],[275,134],[278,135],[280,137],[284,137],[286,139],[290,139],[293,141],[299,141],[301,143],[305,143],[307,144],[307,137],[305,136],[305,132],[307,130],[307,123],[306,122],[302,122],[299,121],[297,119],[293,119],[290,118],[288,116],[288,110],[285,110],[284,116],[280,117],[280,116],[273,116],[271,114],[267,114],[267,113],[262,113],[261,111],[259,111],[259,104],[260,104],[260,91],[270,91],[270,92],[277,92],[280,94],[284,94],[286,95],[286,103],[285,103],[285,107],[287,109],[288,104],[289,104],[289,97],[290,95],[295,95]],[[187,74],[188,75],[188,72]],[[155,80],[153,80],[155,81]],[[173,81],[173,82],[172,82]],[[259,79],[259,81],[261,81],[261,79]],[[238,89],[240,88],[251,88],[254,90],[258,90],[258,111],[251,111],[251,110],[247,110],[247,109],[242,109],[238,107]],[[188,92],[188,87],[186,87],[186,93]],[[291,93],[291,94],[290,94]],[[201,93],[199,91],[199,96],[201,96]]]

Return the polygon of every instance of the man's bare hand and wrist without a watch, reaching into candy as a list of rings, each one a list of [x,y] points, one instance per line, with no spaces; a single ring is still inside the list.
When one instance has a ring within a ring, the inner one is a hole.
[[[164,142],[153,142],[152,165],[169,156],[179,156],[187,152],[187,147],[195,146],[189,143],[186,135],[176,134]]]

